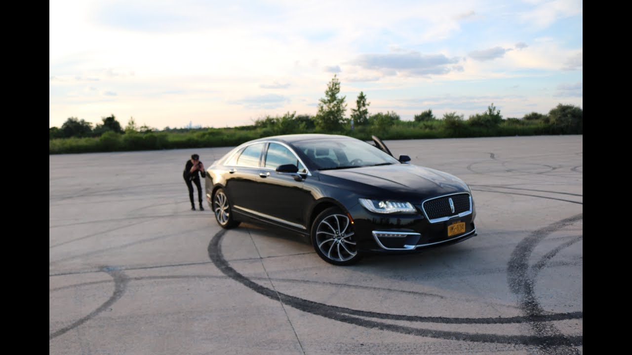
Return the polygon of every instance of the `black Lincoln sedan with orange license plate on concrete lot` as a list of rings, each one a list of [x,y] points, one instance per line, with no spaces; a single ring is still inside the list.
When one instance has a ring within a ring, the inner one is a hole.
[[[282,135],[241,144],[207,169],[219,226],[263,222],[310,236],[326,262],[408,253],[476,235],[471,190],[446,172],[342,135]]]

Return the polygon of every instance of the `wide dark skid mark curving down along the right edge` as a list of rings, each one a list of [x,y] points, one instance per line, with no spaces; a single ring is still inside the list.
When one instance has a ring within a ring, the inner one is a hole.
[[[535,295],[535,274],[537,272],[530,272],[530,268],[528,265],[529,258],[533,253],[535,247],[540,243],[540,241],[544,240],[549,234],[552,232],[559,231],[560,229],[571,226],[578,220],[583,219],[583,214],[574,215],[567,219],[559,220],[549,226],[542,227],[532,232],[530,236],[526,237],[514,249],[511,253],[511,258],[509,259],[509,263],[507,265],[507,283],[509,284],[509,289],[511,292],[518,296],[518,305],[521,310],[525,314],[526,317],[538,316],[544,313],[540,303],[538,303],[537,296]],[[554,256],[559,250],[566,246],[572,244],[578,240],[573,239],[573,241],[569,241],[567,243],[562,244],[558,248],[550,251],[545,255],[543,260],[547,260],[550,256]],[[545,262],[537,263],[537,267],[535,270],[539,270],[540,267],[544,267]],[[561,332],[552,324],[545,322],[532,322],[529,324],[532,328],[533,332],[536,336],[542,337],[556,337],[556,339],[560,339],[559,342],[553,343],[544,343],[544,347],[542,350],[545,354],[577,354],[578,349],[572,348],[572,346],[576,346],[576,339],[569,339],[564,337]],[[580,336],[581,338],[581,336]]]

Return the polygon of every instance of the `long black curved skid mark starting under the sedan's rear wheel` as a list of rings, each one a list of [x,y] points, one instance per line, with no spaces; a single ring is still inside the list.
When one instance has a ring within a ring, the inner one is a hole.
[[[252,291],[262,294],[267,298],[279,300],[288,306],[296,308],[297,310],[312,313],[313,315],[323,316],[331,320],[338,322],[349,323],[358,325],[360,327],[375,328],[379,330],[388,330],[391,332],[398,332],[401,334],[418,335],[422,337],[433,337],[439,339],[449,340],[464,340],[470,342],[495,342],[502,344],[523,344],[527,346],[545,346],[550,344],[573,344],[575,346],[581,345],[582,337],[563,337],[560,335],[555,336],[528,336],[528,335],[497,335],[497,334],[469,334],[465,332],[450,332],[444,330],[432,330],[423,328],[404,327],[401,325],[393,325],[384,322],[377,322],[374,320],[366,320],[357,318],[356,316],[379,316],[382,318],[382,314],[356,311],[348,308],[341,308],[336,306],[330,306],[329,304],[317,303],[308,301],[307,299],[301,299],[288,294],[268,289],[260,284],[253,282],[247,277],[241,275],[233,267],[231,267],[221,251],[220,241],[224,234],[225,229],[217,232],[209,243],[209,258],[216,265],[216,267],[226,276],[231,279],[240,282],[244,286],[252,289]],[[445,318],[449,319],[449,318]],[[471,319],[471,318],[467,318]],[[447,322],[444,322],[447,323]]]

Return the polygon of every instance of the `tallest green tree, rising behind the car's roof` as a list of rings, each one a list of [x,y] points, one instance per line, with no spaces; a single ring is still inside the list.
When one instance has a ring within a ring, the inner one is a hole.
[[[340,81],[337,75],[327,85],[325,97],[319,100],[318,113],[314,117],[316,127],[325,132],[342,131],[344,125],[344,111],[347,104],[345,96],[338,97],[340,93]]]

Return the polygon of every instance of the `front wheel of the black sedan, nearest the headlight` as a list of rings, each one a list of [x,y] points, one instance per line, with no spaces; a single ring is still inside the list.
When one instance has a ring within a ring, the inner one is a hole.
[[[316,217],[312,224],[312,245],[325,262],[352,265],[362,258],[349,222],[349,217],[337,207],[329,207]]]

